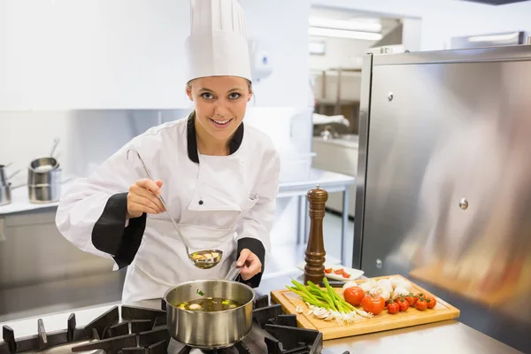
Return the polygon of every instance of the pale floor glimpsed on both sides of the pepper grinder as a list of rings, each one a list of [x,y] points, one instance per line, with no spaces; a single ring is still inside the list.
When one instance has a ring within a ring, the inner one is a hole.
[[[328,260],[341,259],[341,217],[327,212],[325,219],[323,220],[323,236],[325,239],[325,250],[327,256],[331,256]],[[352,265],[352,248],[354,246],[354,223],[349,221],[349,227],[345,234],[345,248],[349,250],[348,258],[345,259],[344,266]],[[271,254],[267,258],[266,270],[264,275],[271,273],[278,273],[293,269],[297,264],[304,261],[304,250],[306,250],[306,244],[296,243],[271,247]]]

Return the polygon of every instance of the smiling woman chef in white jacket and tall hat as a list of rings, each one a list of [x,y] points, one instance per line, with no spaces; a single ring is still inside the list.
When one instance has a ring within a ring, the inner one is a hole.
[[[183,281],[220,279],[236,259],[257,287],[269,247],[280,173],[273,142],[244,125],[250,58],[237,0],[192,0],[188,119],[136,136],[63,196],[59,231],[81,250],[127,266],[124,303],[163,297]],[[139,152],[150,175],[146,179]],[[165,213],[161,194],[193,250],[223,250],[196,268]]]

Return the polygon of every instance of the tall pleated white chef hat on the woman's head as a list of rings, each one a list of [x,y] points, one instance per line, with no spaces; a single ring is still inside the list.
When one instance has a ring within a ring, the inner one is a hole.
[[[186,81],[205,76],[250,79],[242,6],[237,0],[190,0]]]

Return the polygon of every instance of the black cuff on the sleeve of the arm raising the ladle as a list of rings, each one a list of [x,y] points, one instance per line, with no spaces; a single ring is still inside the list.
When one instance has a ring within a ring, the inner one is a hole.
[[[147,215],[140,218],[127,218],[127,193],[111,196],[105,204],[104,212],[92,229],[92,243],[97,250],[112,255],[119,268],[129,266],[135,258],[146,228]]]

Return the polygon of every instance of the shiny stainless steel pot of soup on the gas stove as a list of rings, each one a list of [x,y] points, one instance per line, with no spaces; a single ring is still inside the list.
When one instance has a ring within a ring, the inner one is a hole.
[[[204,296],[233,300],[242,306],[219,312],[194,312],[177,307],[185,301],[203,298],[197,294],[198,289],[204,292]],[[255,293],[240,282],[188,281],[169,289],[164,298],[170,335],[190,347],[206,350],[227,348],[249,335],[252,328]]]

